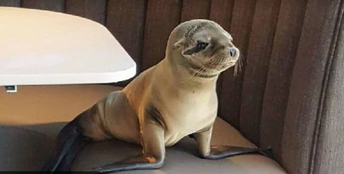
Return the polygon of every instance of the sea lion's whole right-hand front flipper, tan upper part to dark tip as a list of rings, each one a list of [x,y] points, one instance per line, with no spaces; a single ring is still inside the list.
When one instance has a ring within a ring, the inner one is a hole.
[[[213,127],[209,127],[203,132],[198,132],[192,135],[197,141],[199,153],[205,159],[223,159],[226,157],[233,157],[236,155],[245,154],[261,154],[271,157],[271,148],[245,148],[230,145],[211,145],[211,133]]]

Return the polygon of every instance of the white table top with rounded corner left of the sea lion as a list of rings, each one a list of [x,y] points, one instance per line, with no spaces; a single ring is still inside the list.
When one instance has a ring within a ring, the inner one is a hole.
[[[0,86],[111,83],[135,74],[136,63],[97,22],[0,7]]]

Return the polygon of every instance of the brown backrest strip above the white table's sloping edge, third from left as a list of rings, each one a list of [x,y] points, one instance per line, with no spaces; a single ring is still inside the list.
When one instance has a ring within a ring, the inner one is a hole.
[[[65,0],[65,13],[92,19],[105,24],[106,0]]]

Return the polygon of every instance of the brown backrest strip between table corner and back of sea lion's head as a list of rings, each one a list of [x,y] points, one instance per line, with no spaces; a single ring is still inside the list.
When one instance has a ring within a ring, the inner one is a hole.
[[[165,57],[168,36],[179,24],[181,0],[149,0],[141,70],[146,70]]]

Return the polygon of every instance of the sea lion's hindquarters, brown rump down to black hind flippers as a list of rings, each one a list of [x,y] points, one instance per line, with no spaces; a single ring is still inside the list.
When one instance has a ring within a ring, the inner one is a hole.
[[[74,158],[86,143],[106,139],[100,119],[104,116],[105,102],[106,97],[80,113],[61,129],[56,139],[54,153],[41,168],[42,173],[68,171]]]

